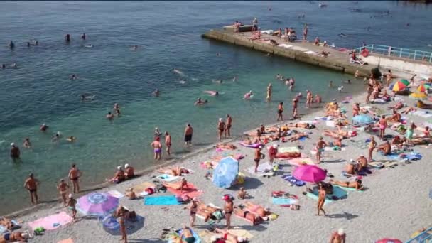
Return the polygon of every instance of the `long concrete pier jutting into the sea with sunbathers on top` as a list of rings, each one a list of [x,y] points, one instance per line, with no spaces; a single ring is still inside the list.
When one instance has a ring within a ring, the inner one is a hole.
[[[209,32],[202,35],[202,38],[209,38],[212,40],[222,41],[234,45],[241,45],[245,48],[259,50],[264,53],[279,55],[285,58],[291,58],[293,60],[303,63],[309,63],[319,67],[349,73],[351,75],[354,75],[355,71],[358,70],[360,76],[362,77],[369,77],[370,70],[372,68],[377,68],[378,65],[380,70],[382,71],[387,69],[393,70],[394,68],[396,68],[394,65],[389,65],[387,67],[386,65],[383,65],[385,64],[385,62],[383,62],[382,59],[378,62],[374,61],[373,58],[362,58],[362,60],[365,61],[369,59],[369,65],[352,64],[350,63],[349,50],[340,50],[336,48],[330,48],[328,46],[314,45],[314,43],[312,42],[287,42],[284,39],[278,38],[277,36],[270,36],[267,34],[261,34],[260,40],[252,40],[251,37],[252,32],[234,33],[232,30],[210,30]],[[273,45],[270,43],[270,41],[265,40],[274,40],[279,45]],[[323,55],[320,55],[322,51],[328,52],[330,54],[325,57]],[[359,56],[358,53],[357,56]],[[394,58],[388,57],[388,59],[392,60]],[[405,60],[404,62],[404,65],[406,65],[406,63],[410,63],[411,71],[397,70],[399,72],[396,72],[396,76],[406,77],[407,75],[411,75],[415,72],[415,70],[417,70],[417,68],[414,68],[414,66],[419,65],[419,63],[411,62],[410,60]],[[423,63],[422,65],[425,64]],[[426,63],[426,65],[431,66],[430,63]],[[424,70],[424,66],[419,67],[419,69]]]

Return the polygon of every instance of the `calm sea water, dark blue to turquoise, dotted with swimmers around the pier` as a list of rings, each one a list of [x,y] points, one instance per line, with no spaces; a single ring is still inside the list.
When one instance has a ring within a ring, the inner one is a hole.
[[[352,13],[350,8],[361,11]],[[387,9],[389,16],[383,14]],[[330,2],[326,9],[307,1],[2,2],[0,21],[7,24],[0,32],[0,43],[4,43],[0,63],[16,62],[18,68],[0,70],[0,191],[13,195],[8,200],[0,198],[4,206],[0,213],[28,205],[22,184],[30,172],[42,181],[43,200],[56,194],[55,182],[67,176],[70,163],[84,171],[85,185],[101,183],[124,163],[136,168],[153,165],[149,144],[155,126],[171,131],[173,157],[179,158],[190,151],[181,142],[187,122],[193,124],[194,147],[198,148],[216,141],[217,119],[227,113],[234,118],[235,135],[274,121],[277,102],[288,102],[293,96],[274,80],[276,73],[295,77],[295,92],[310,89],[324,99],[362,90],[358,84],[345,85],[347,92],[339,94],[327,87],[328,80],[338,85],[352,78],[349,75],[200,38],[210,28],[257,16],[262,28],[292,26],[300,31],[303,23],[309,23],[311,36],[345,47],[366,41],[427,50],[432,36],[427,24],[430,11],[430,6],[364,1]],[[303,13],[305,18],[295,17]],[[79,39],[83,31],[85,43]],[[63,41],[65,33],[72,35],[70,45]],[[40,45],[27,48],[25,43],[31,38]],[[9,40],[16,43],[13,51],[6,47]],[[94,47],[82,48],[89,43]],[[139,49],[132,51],[131,45]],[[173,68],[185,76],[175,75]],[[69,80],[72,73],[80,78]],[[236,82],[231,81],[234,76]],[[182,79],[187,80],[184,85],[179,83]],[[217,85],[213,79],[225,82]],[[270,104],[264,102],[269,82],[274,84]],[[156,87],[161,97],[151,96]],[[208,97],[204,90],[224,94]],[[244,101],[242,96],[249,90],[256,95]],[[95,94],[95,100],[80,102],[79,95],[85,92]],[[197,97],[210,103],[194,107]],[[109,122],[104,116],[115,102],[121,106],[122,117]],[[46,134],[38,131],[43,122],[50,126]],[[55,131],[76,136],[77,141],[53,144],[50,139]],[[21,146],[25,137],[30,137],[33,148],[21,148],[23,162],[11,163],[9,144]]]

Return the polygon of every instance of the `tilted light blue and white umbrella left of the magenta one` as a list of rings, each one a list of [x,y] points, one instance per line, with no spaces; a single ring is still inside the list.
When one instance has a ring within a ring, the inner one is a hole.
[[[232,157],[222,158],[213,170],[212,182],[218,188],[229,188],[237,180],[239,161]]]

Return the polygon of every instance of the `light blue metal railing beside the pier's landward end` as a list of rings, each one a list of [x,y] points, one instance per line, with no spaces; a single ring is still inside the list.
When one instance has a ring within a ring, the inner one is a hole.
[[[360,48],[356,48],[357,52],[362,52],[362,50],[367,49],[369,53],[377,53],[381,55],[388,55],[398,58],[407,58],[411,60],[421,60],[428,63],[432,63],[432,53],[423,50],[412,50],[408,48],[398,48],[389,45],[366,45]]]

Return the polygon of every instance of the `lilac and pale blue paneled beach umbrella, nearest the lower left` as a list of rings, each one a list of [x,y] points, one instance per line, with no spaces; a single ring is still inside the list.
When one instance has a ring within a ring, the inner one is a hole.
[[[116,210],[119,198],[105,193],[90,193],[77,200],[77,210],[83,215],[104,216]]]

